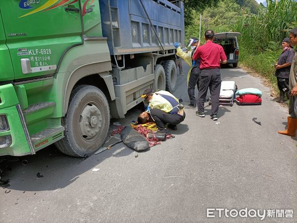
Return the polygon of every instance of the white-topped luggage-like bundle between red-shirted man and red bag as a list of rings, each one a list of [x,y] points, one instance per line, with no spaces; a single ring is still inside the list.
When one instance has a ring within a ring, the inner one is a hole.
[[[236,100],[235,92],[237,91],[237,85],[235,81],[222,81],[220,90],[220,105],[234,105]],[[211,105],[211,99],[208,99],[208,105]]]

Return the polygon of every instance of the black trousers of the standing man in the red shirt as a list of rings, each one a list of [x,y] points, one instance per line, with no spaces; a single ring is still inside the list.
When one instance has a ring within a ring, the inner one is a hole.
[[[221,73],[219,68],[202,69],[199,79],[198,93],[198,111],[204,112],[204,101],[207,90],[210,90],[211,114],[217,114],[219,111],[219,100],[221,90]]]

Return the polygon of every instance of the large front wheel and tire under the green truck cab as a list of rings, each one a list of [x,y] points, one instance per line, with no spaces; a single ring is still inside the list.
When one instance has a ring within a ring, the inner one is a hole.
[[[107,99],[99,88],[79,85],[70,96],[69,108],[62,125],[65,137],[55,143],[64,154],[88,157],[104,143],[110,113]]]

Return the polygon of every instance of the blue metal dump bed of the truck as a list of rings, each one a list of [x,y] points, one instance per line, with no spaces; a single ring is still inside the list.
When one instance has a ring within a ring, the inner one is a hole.
[[[110,54],[158,52],[162,51],[162,47],[164,50],[174,49],[174,42],[183,44],[184,6],[182,1],[174,2],[99,0],[103,37],[107,37]]]

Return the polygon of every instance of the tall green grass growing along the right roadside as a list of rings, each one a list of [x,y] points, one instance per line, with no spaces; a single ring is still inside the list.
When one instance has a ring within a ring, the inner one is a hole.
[[[240,61],[271,80],[276,88],[275,64],[281,42],[297,26],[296,0],[267,0],[256,15],[243,15],[231,29],[240,32]]]

